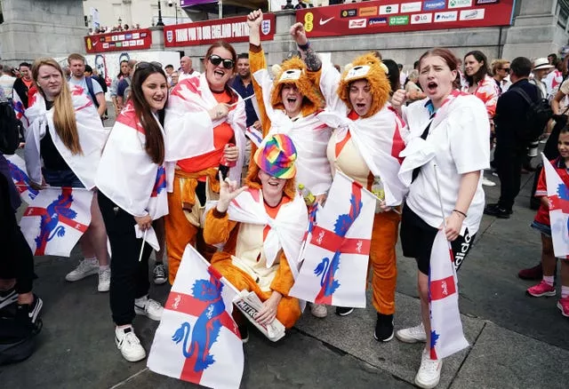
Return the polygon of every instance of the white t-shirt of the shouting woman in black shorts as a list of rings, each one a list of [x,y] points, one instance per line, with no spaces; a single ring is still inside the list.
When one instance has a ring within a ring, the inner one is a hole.
[[[403,117],[411,131],[411,138],[421,137],[429,124],[429,99],[403,107]],[[429,128],[427,142],[434,147],[435,157],[421,167],[417,179],[409,188],[406,203],[429,226],[438,228],[443,223],[437,194],[437,176],[445,217],[455,208],[461,185],[461,174],[482,171],[490,167],[490,123],[482,100],[473,95],[458,96],[441,107]],[[437,168],[435,168],[437,165]],[[437,170],[436,170],[437,169]],[[469,234],[476,234],[485,205],[482,175],[477,191],[462,224]]]

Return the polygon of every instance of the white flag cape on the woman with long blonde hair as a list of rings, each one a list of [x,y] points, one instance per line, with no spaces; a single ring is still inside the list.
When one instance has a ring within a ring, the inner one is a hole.
[[[36,93],[30,98],[30,107],[26,110],[29,122],[24,148],[26,167],[29,178],[40,184],[42,182],[40,140],[44,138],[45,131],[50,131],[53,144],[65,162],[81,180],[84,187],[92,189],[95,186],[95,172],[99,166],[100,153],[107,141],[108,131],[100,123],[97,110],[91,99],[84,95],[83,88],[78,85],[69,85],[69,88],[75,109],[79,144],[83,152],[73,155],[71,150],[63,144],[53,126],[53,107],[47,111],[44,97],[41,93]]]

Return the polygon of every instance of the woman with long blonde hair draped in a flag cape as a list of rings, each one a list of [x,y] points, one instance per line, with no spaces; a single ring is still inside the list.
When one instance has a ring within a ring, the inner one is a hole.
[[[24,155],[29,178],[38,187],[80,187],[92,190],[107,131],[92,101],[81,87],[69,88],[60,65],[40,58],[32,66],[37,92],[25,112],[28,124]],[[91,224],[81,237],[84,259],[66,275],[74,282],[99,274],[99,291],[108,291],[107,233],[97,196],[91,204]]]

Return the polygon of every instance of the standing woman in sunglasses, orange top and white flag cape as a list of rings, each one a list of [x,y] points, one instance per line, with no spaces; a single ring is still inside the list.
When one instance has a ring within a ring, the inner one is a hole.
[[[196,248],[206,258],[216,251],[201,238],[205,202],[219,197],[218,172],[240,182],[244,163],[244,101],[228,85],[236,69],[233,46],[212,44],[204,65],[202,75],[172,88],[166,107],[166,161],[174,166],[164,218],[170,283],[188,243],[199,242]]]

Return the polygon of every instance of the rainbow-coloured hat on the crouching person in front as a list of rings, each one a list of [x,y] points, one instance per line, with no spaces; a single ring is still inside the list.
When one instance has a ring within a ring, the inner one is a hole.
[[[293,179],[296,175],[296,147],[284,134],[268,138],[253,156],[261,171],[277,179]]]

